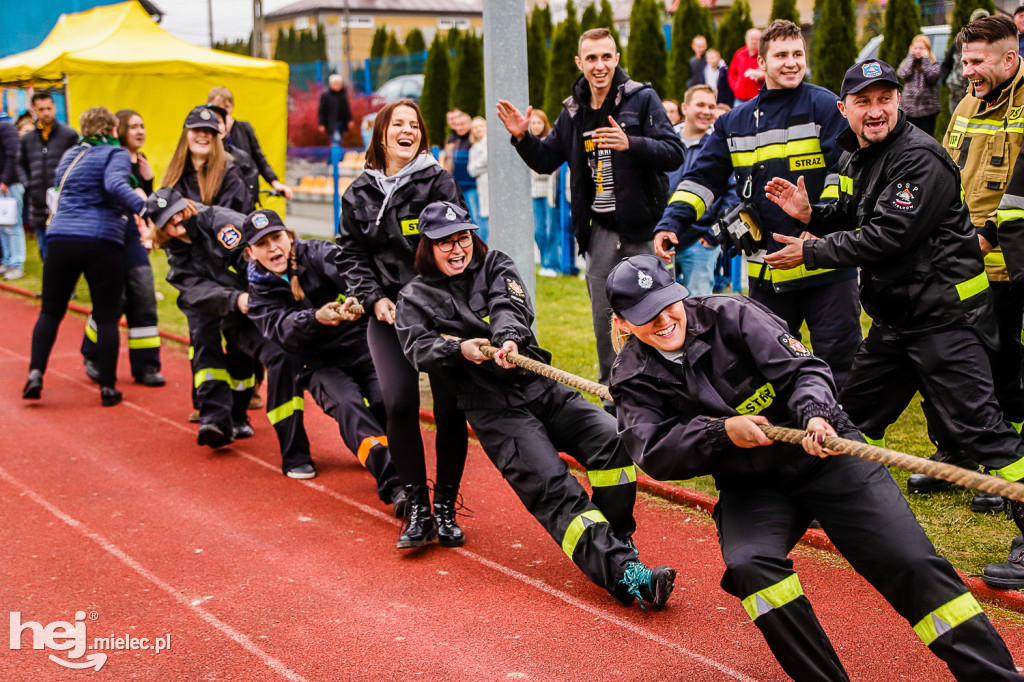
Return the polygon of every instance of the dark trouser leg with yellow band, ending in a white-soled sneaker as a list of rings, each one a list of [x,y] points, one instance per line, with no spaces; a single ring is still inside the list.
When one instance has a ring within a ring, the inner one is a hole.
[[[281,445],[282,471],[312,464],[303,421],[305,401],[299,382],[302,360],[264,339],[249,321],[241,327],[225,330],[224,338],[237,343],[266,368],[264,403],[267,419],[273,425]]]

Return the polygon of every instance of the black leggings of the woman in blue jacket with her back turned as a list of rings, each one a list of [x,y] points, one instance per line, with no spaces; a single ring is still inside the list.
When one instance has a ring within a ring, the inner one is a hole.
[[[105,240],[50,240],[43,262],[43,309],[32,332],[30,369],[46,372],[60,321],[78,279],[85,274],[96,323],[99,385],[114,386],[118,370],[118,319],[124,295],[124,247]]]

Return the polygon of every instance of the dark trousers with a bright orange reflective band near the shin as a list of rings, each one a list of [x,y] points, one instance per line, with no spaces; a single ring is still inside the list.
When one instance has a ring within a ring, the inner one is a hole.
[[[316,404],[338,423],[341,439],[377,481],[377,497],[390,503],[398,486],[385,429],[374,411],[381,409],[380,386],[369,355],[337,366],[305,370],[301,381]]]

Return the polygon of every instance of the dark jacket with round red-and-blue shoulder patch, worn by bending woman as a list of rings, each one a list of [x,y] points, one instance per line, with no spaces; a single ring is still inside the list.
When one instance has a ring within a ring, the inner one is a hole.
[[[167,282],[181,294],[178,307],[195,308],[222,317],[225,327],[246,323],[239,296],[249,290],[242,223],[246,216],[221,206],[197,205],[187,220],[188,242],[171,240],[167,252]]]

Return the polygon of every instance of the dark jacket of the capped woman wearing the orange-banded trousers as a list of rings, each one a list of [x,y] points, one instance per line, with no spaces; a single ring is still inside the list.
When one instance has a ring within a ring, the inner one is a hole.
[[[249,318],[265,338],[303,360],[340,360],[343,366],[369,363],[367,317],[337,327],[316,321],[316,310],[343,300],[345,284],[335,267],[337,247],[319,240],[296,240],[295,271],[306,297],[296,301],[285,278],[249,265]]]

